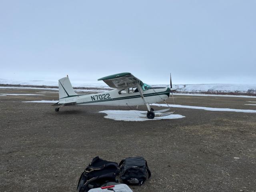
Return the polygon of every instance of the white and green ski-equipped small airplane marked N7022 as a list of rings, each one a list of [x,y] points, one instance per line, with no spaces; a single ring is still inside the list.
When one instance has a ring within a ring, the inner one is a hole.
[[[102,77],[109,87],[114,90],[97,94],[76,94],[70,83],[68,76],[59,79],[59,102],[52,106],[58,106],[55,111],[58,112],[63,106],[140,106],[145,105],[148,112],[142,113],[146,116],[142,118],[153,119],[158,116],[167,116],[173,112],[170,110],[154,111],[150,104],[165,101],[169,98],[170,92],[177,89],[172,88],[172,79],[170,78],[169,87],[152,87],[133,76],[131,73],[118,73]],[[173,97],[173,96],[172,96]],[[155,114],[156,113],[156,114]]]

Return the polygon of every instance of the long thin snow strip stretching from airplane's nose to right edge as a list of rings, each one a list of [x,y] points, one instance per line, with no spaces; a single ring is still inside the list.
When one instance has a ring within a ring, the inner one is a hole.
[[[151,105],[168,107],[166,104],[158,104],[158,103],[153,103]],[[229,111],[229,112],[256,113],[256,110],[249,110],[249,109],[212,108],[212,107],[198,107],[198,106],[173,105],[173,104],[168,104],[168,105],[170,107],[175,107],[175,108],[203,109],[203,110],[207,110],[207,111]]]

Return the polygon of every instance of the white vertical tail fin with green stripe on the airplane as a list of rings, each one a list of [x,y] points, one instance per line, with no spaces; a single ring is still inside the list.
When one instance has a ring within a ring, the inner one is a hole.
[[[74,92],[74,89],[70,83],[68,75],[67,77],[59,79],[59,99],[64,99],[74,95],[77,95],[77,94]]]

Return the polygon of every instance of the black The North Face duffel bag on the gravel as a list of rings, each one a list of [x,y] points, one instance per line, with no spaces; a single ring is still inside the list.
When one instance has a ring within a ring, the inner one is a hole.
[[[128,185],[141,185],[151,173],[147,161],[143,157],[128,157],[119,164],[120,178]]]

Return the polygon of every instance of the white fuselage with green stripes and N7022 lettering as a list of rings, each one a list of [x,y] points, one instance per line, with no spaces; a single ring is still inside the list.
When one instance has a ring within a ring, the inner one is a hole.
[[[87,95],[76,95],[76,96],[66,96],[60,98],[59,104],[66,105],[77,105],[77,106],[136,106],[145,105],[139,92],[122,93],[120,89],[114,89],[97,94],[87,94]],[[170,88],[150,88],[143,91],[143,96],[148,104],[157,103],[162,100],[169,98]],[[70,103],[70,104],[68,104]]]

